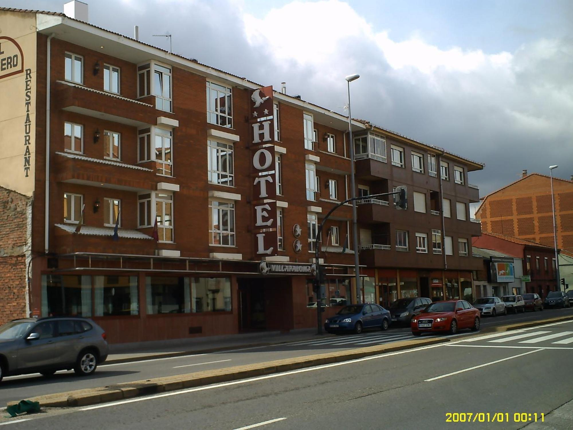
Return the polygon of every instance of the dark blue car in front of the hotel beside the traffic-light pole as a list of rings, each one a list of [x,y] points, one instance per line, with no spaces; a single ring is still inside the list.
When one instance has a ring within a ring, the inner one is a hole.
[[[328,333],[354,331],[378,327],[387,330],[390,325],[390,312],[374,303],[352,304],[344,306],[336,315],[324,321],[324,330]]]

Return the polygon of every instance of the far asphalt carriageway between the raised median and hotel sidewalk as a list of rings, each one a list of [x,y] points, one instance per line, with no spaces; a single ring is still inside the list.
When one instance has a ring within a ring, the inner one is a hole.
[[[482,327],[485,328],[494,325],[569,314],[573,314],[573,309],[526,312],[525,314],[497,316],[495,318],[488,317],[482,319]],[[470,333],[472,332],[464,330],[459,336],[463,337]],[[423,335],[423,337],[428,336],[429,334]],[[230,366],[301,357],[330,351],[342,351],[356,347],[380,345],[413,338],[410,329],[402,327],[389,329],[387,331],[367,331],[360,335],[317,337],[310,341],[264,347],[249,347],[218,353],[194,354],[183,357],[160,358],[149,361],[135,361],[111,365],[104,364],[99,366],[96,372],[89,377],[77,377],[73,372],[58,372],[51,378],[44,378],[39,374],[6,377],[0,383],[0,405],[5,405],[8,401],[23,400],[42,394],[95,388],[118,384],[120,382],[146,380],[149,378],[199,372],[201,370],[221,369]]]

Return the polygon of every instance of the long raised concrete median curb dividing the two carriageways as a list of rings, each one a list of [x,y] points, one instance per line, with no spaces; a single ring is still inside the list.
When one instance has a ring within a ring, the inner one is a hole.
[[[69,406],[88,406],[115,400],[123,400],[148,394],[163,393],[171,390],[192,388],[203,385],[217,384],[219,382],[236,381],[244,378],[252,378],[272,373],[287,372],[319,366],[324,364],[348,361],[357,358],[368,357],[411,349],[419,346],[434,345],[449,342],[448,338],[414,339],[410,341],[395,342],[392,344],[368,346],[348,351],[336,351],[333,353],[307,355],[305,357],[280,359],[264,363],[256,363],[245,366],[233,366],[218,370],[204,370],[202,372],[187,373],[182,375],[152,378],[150,380],[125,382],[111,386],[74,390],[64,393],[38,396],[29,400],[40,402],[41,406],[62,408]],[[7,406],[16,404],[19,400],[8,402]]]

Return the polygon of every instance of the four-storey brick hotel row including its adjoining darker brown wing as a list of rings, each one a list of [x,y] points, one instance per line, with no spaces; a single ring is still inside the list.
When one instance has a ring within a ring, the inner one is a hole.
[[[321,299],[471,291],[483,165],[353,120],[364,288],[353,283],[343,115],[66,12],[0,8],[0,323],[95,319],[110,342],[316,324]],[[77,18],[74,19],[73,17]],[[469,293],[471,294],[471,293]]]

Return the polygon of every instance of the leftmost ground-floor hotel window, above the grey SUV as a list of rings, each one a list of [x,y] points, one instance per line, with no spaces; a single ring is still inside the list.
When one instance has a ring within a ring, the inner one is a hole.
[[[92,316],[92,282],[86,275],[42,275],[42,316]]]

